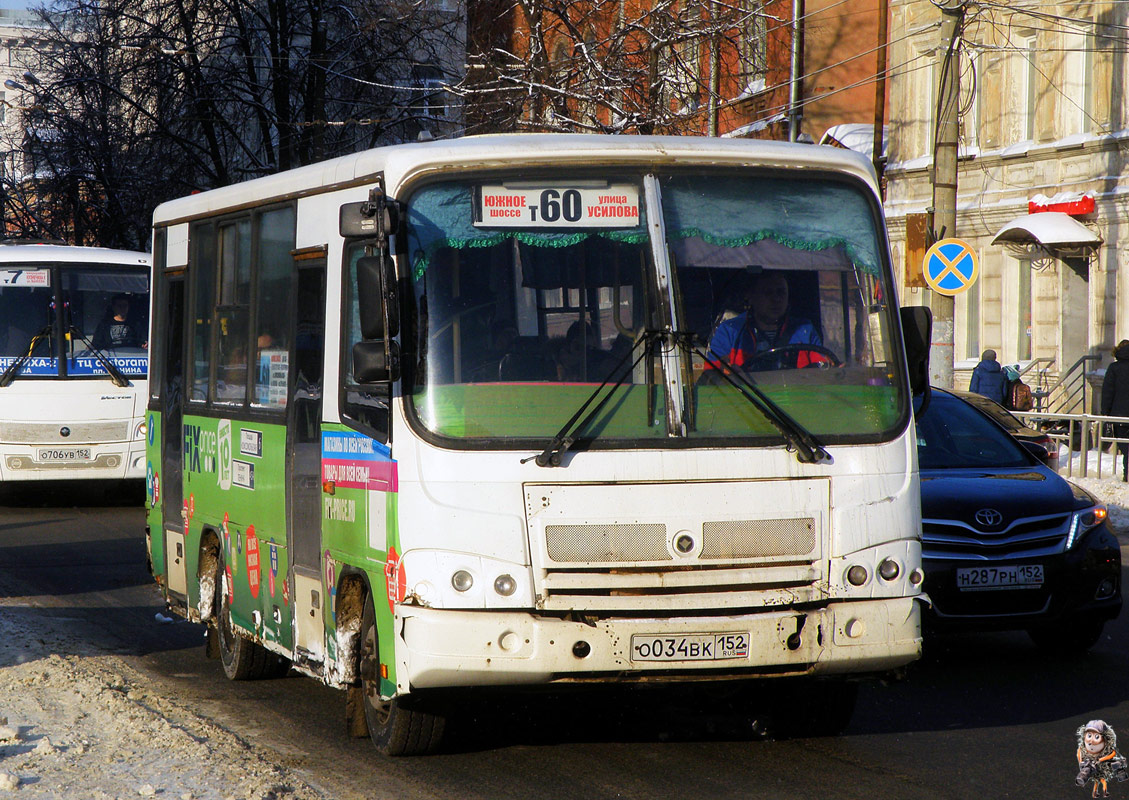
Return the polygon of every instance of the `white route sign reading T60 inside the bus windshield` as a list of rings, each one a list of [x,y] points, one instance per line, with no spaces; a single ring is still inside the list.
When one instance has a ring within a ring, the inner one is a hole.
[[[474,217],[482,228],[633,228],[639,190],[632,184],[479,186]]]

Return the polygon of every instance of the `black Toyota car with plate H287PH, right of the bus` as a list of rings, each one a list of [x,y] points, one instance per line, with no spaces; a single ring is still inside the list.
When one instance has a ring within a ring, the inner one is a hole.
[[[927,630],[1025,630],[1079,651],[1121,610],[1106,510],[953,394],[917,421]]]

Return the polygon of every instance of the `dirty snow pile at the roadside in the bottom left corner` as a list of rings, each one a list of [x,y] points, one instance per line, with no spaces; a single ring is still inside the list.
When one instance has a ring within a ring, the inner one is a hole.
[[[0,795],[324,800],[115,656],[59,656],[0,599]]]

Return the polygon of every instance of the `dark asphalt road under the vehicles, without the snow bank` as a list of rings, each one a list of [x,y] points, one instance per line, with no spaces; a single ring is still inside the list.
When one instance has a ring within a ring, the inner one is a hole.
[[[345,736],[342,693],[298,676],[230,683],[202,627],[158,622],[139,502],[119,487],[5,493],[0,597],[81,626],[91,652],[124,654],[342,799],[1085,798],[1075,729],[1100,718],[1129,736],[1122,615],[1079,658],[1042,656],[1018,633],[929,641],[905,680],[863,688],[834,738],[767,737],[725,696],[483,695],[444,754],[386,759]],[[1129,798],[1129,783],[1111,791]]]

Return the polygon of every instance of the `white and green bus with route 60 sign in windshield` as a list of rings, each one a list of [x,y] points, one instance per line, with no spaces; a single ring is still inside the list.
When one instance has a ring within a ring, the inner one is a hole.
[[[149,551],[228,677],[412,754],[452,692],[800,679],[834,727],[918,657],[925,328],[908,368],[863,158],[467,138],[154,227]]]

